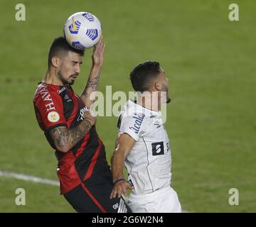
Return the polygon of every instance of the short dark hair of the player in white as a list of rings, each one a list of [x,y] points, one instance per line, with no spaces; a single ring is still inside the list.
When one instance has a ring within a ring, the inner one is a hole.
[[[130,73],[132,87],[136,92],[149,91],[151,82],[160,73],[159,62],[146,61],[142,62]]]

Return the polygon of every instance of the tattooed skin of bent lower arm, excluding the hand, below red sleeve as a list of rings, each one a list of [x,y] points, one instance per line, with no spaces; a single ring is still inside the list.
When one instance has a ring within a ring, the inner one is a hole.
[[[90,131],[91,126],[90,121],[84,118],[77,127],[70,130],[65,126],[53,128],[50,130],[50,135],[58,148],[72,148]]]

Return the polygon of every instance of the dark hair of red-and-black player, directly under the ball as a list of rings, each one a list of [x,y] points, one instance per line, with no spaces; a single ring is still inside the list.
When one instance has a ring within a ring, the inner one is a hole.
[[[72,51],[78,53],[80,56],[85,55],[85,50],[77,50],[70,46],[68,42],[65,40],[63,36],[60,36],[58,38],[55,38],[53,40],[52,45],[50,46],[50,50],[48,53],[48,68],[50,68],[51,65],[51,59],[58,55],[59,52],[67,52]]]

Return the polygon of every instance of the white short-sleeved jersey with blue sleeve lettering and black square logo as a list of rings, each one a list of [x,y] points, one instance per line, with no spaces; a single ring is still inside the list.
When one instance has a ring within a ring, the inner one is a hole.
[[[132,194],[148,194],[170,187],[171,149],[160,111],[127,101],[119,117],[119,135],[129,134],[136,143],[125,159]]]

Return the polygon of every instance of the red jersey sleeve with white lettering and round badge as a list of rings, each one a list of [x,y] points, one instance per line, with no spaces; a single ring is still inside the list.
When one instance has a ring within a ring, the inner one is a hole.
[[[41,116],[44,131],[58,126],[67,126],[63,114],[63,101],[57,92],[49,91],[48,94],[39,97],[36,107]]]

